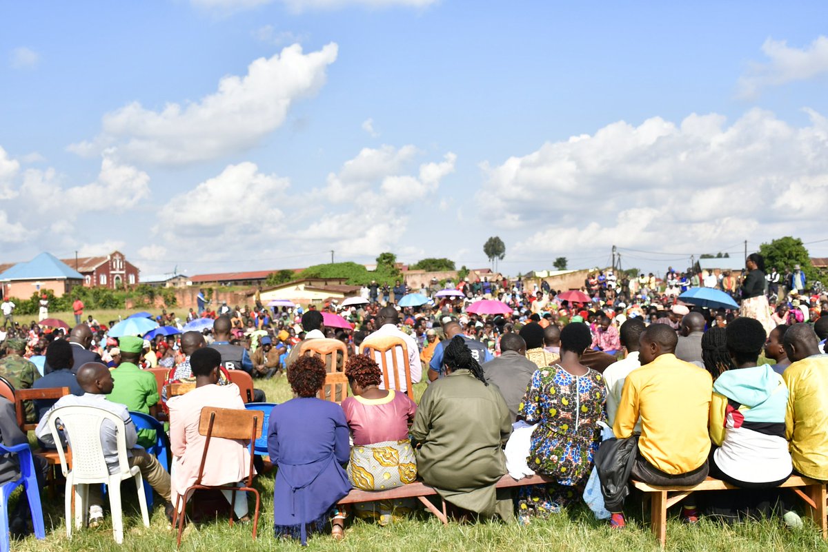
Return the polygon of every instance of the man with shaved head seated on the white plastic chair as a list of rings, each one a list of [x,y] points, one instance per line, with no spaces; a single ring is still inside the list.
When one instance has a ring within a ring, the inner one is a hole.
[[[150,374],[152,376],[152,374]],[[80,366],[77,373],[78,384],[84,390],[84,394],[77,397],[66,395],[60,397],[55,406],[41,419],[35,430],[35,435],[45,445],[54,446],[55,440],[49,430],[49,417],[55,409],[69,406],[83,406],[102,408],[112,412],[123,420],[127,440],[127,457],[129,465],[137,466],[141,475],[147,483],[160,494],[165,501],[167,518],[172,521],[173,506],[170,503],[170,474],[161,467],[158,460],[146,450],[136,447],[137,434],[132,417],[126,405],[106,400],[106,396],[112,393],[113,378],[109,369],[100,363],[88,363]],[[109,471],[118,469],[118,440],[115,426],[112,421],[104,420],[101,426],[101,445],[103,457],[109,467]],[[103,500],[101,498],[101,486],[89,485],[89,525],[98,526],[103,521]]]

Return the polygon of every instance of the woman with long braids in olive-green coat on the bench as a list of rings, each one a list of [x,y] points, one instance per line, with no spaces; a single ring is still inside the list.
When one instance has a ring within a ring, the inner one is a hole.
[[[483,517],[513,519],[511,499],[498,500],[506,473],[503,444],[512,432],[509,409],[461,335],[444,350],[445,378],[423,393],[414,416],[412,445],[422,480],[440,497]]]

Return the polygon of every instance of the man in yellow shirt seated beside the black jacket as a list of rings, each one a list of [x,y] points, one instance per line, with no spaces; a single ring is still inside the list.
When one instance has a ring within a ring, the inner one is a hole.
[[[707,420],[713,379],[695,364],[676,359],[678,336],[667,324],[652,324],[638,340],[641,368],[623,384],[613,432],[633,436],[641,418],[641,437],[630,477],[653,485],[696,485],[707,477],[710,435]],[[611,525],[623,527],[624,496],[606,507]],[[697,521],[692,505],[682,508],[685,521]]]

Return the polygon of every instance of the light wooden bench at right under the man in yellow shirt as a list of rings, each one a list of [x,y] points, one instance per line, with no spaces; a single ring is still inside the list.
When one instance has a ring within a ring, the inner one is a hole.
[[[650,505],[650,526],[652,534],[656,535],[658,542],[664,546],[667,541],[667,508],[681,502],[691,493],[699,491],[724,491],[738,489],[729,483],[719,479],[706,478],[704,481],[693,487],[659,487],[641,481],[634,481],[633,486],[645,493],[645,497],[651,499]],[[826,520],[826,486],[816,479],[792,475],[779,488],[792,488],[797,496],[808,506],[808,516],[816,523],[822,531],[822,538],[828,535],[828,520]],[[804,490],[802,489],[804,488]]]

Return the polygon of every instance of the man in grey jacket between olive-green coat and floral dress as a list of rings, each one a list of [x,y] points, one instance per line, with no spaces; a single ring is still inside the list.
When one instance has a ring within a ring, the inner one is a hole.
[[[512,423],[517,420],[517,410],[523,395],[535,374],[537,366],[526,358],[526,341],[516,333],[508,333],[500,339],[500,356],[483,364],[486,381],[497,386]]]

